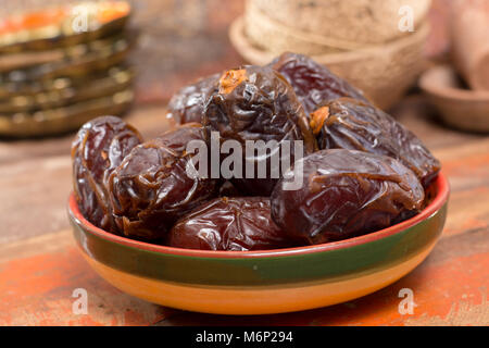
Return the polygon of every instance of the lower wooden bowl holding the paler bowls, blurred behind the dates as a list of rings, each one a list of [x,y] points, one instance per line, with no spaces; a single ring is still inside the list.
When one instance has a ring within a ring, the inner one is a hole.
[[[388,109],[402,98],[422,73],[428,34],[429,25],[425,24],[412,35],[386,45],[311,58],[362,89],[379,108]],[[249,41],[242,17],[231,24],[229,38],[251,64],[264,65],[277,55]]]

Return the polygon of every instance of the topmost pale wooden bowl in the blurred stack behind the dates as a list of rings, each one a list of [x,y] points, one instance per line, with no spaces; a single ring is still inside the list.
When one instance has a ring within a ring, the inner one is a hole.
[[[402,18],[400,9],[408,5],[413,10],[414,26],[417,28],[423,24],[430,4],[431,0],[248,0],[244,16],[250,26],[247,25],[246,30],[255,34],[250,38],[253,42],[263,44],[259,46],[267,45],[268,39],[274,41],[273,35],[268,34],[281,27],[297,33],[299,37],[318,38],[317,42],[323,39],[333,48],[354,49],[409,35],[409,32],[399,29]],[[256,27],[261,30],[255,30]],[[299,52],[293,47],[283,47],[281,50]]]

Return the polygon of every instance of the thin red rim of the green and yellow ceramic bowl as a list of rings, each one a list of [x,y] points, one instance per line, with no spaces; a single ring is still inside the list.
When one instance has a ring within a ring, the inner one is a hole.
[[[121,244],[124,246],[159,252],[164,254],[174,254],[174,256],[184,256],[184,257],[195,257],[195,258],[234,258],[234,259],[242,259],[242,258],[269,258],[269,257],[285,257],[285,256],[298,256],[298,254],[306,254],[312,252],[322,252],[322,251],[330,251],[344,249],[353,246],[359,246],[363,244],[367,244],[374,240],[378,240],[381,238],[386,238],[388,236],[392,236],[397,233],[400,233],[409,227],[416,225],[417,223],[430,217],[434,213],[436,213],[448,200],[450,187],[447,181],[447,177],[443,173],[439,173],[437,179],[432,185],[437,187],[437,195],[432,199],[432,201],[417,215],[405,220],[399,224],[393,226],[359,236],[353,237],[340,241],[333,241],[328,244],[315,245],[315,246],[305,246],[305,247],[296,247],[296,248],[287,248],[287,249],[274,249],[274,250],[262,250],[262,251],[212,251],[212,250],[197,250],[197,249],[181,249],[174,248],[161,245],[154,245],[150,243],[139,241],[129,239],[126,237],[117,236],[106,231],[103,231],[90,222],[88,222],[78,209],[78,204],[76,203],[76,199],[74,194],[70,195],[68,199],[68,212],[76,221],[78,225],[84,226],[85,231],[103,238],[105,240]]]

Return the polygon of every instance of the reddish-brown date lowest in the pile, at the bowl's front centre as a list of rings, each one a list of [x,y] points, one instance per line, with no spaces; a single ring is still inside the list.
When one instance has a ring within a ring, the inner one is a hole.
[[[201,250],[268,250],[291,246],[272,221],[269,199],[217,198],[179,220],[171,247]]]

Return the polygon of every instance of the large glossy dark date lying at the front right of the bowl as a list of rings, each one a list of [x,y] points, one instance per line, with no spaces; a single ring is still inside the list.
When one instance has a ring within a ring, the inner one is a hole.
[[[322,150],[294,165],[302,165],[302,188],[285,190],[284,178],[271,198],[273,220],[293,238],[322,244],[364,235],[411,217],[423,206],[417,177],[389,157]]]

